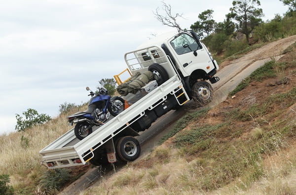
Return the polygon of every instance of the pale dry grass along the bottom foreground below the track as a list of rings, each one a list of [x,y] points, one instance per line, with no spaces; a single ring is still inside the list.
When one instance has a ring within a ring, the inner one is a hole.
[[[173,150],[174,154],[181,152],[169,146],[159,146],[151,153],[150,160],[157,159],[159,151]],[[157,151],[157,152],[156,152]],[[203,173],[206,168],[203,159],[196,158],[187,161],[182,155],[169,155],[167,162],[155,161],[150,168],[127,166],[99,186],[84,192],[84,195],[229,195],[229,194],[287,194],[296,192],[296,147],[266,156],[263,163],[264,175],[251,184],[237,178],[229,185],[215,191],[204,191],[201,182],[207,177]],[[207,167],[209,168],[209,166]],[[213,167],[215,168],[215,167]],[[222,170],[221,170],[222,171]],[[211,174],[209,170],[208,174]]]

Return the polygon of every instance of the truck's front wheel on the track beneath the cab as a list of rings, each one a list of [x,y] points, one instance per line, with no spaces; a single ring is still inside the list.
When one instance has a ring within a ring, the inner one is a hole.
[[[213,88],[206,81],[195,82],[192,86],[192,98],[198,107],[206,106],[213,99]]]

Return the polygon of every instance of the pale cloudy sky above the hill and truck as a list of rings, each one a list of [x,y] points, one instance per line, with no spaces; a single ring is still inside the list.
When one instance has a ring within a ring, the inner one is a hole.
[[[222,22],[232,0],[165,0],[183,13],[182,28],[213,9]],[[283,15],[280,0],[260,0],[263,20]],[[0,0],[0,135],[15,131],[16,114],[29,108],[51,117],[65,102],[88,101],[85,87],[126,68],[124,54],[175,29],[152,11],[160,0]],[[67,119],[65,118],[65,122]]]

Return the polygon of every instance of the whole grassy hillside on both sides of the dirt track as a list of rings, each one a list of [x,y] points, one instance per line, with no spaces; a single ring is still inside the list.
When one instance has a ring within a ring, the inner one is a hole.
[[[280,63],[267,67],[274,72],[271,78],[247,79],[234,99],[183,117],[175,127],[181,132],[84,194],[293,192],[296,50],[285,52]],[[67,115],[85,108],[75,109],[25,132],[0,136],[0,174],[10,176],[15,194],[45,192],[42,181],[52,175],[44,179],[50,171],[40,165],[38,152],[71,128]],[[72,181],[88,168],[69,169]]]

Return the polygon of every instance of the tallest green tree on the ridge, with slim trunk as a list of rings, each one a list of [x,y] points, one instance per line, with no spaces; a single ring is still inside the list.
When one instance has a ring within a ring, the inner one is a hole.
[[[238,32],[245,34],[247,43],[249,43],[249,37],[253,29],[258,26],[263,16],[262,9],[256,8],[255,5],[260,5],[259,0],[234,0],[232,1],[233,7],[231,11],[231,17],[237,22]]]

